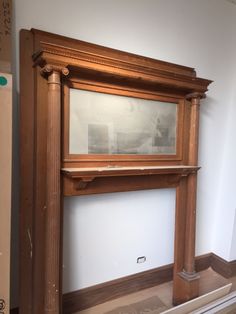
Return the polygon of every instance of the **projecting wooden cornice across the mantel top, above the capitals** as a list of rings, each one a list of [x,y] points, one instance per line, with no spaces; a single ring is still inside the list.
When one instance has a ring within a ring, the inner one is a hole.
[[[211,83],[210,80],[196,77],[192,68],[181,68],[168,62],[160,63],[158,60],[134,54],[129,54],[130,58],[124,60],[120,57],[122,52],[112,51],[114,56],[107,56],[97,45],[93,45],[91,52],[84,43],[79,49],[74,49],[42,41],[40,50],[33,54],[33,61],[41,67],[48,63],[64,64],[64,67],[68,67],[72,72],[82,69],[125,77],[128,80],[141,80],[146,84],[156,85],[157,88],[159,86],[177,89],[185,94],[197,92],[203,95]]]

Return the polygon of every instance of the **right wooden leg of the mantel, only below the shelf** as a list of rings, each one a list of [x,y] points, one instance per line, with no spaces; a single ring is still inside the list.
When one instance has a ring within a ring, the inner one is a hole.
[[[195,196],[189,187],[196,176],[182,179],[176,191],[175,263],[173,304],[189,301],[199,294],[199,275],[195,272]],[[194,191],[194,189],[193,189]]]

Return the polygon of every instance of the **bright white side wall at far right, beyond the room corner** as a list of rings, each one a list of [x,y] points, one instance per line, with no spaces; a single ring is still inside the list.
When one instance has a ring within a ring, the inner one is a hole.
[[[236,8],[236,6],[235,6]],[[234,26],[235,27],[235,26]],[[236,46],[236,40],[235,40]],[[234,48],[235,51],[235,48]],[[236,58],[235,58],[236,59]],[[229,95],[230,106],[225,130],[220,182],[213,226],[213,251],[226,260],[236,259],[236,62],[232,63],[234,75],[231,76],[232,92]]]

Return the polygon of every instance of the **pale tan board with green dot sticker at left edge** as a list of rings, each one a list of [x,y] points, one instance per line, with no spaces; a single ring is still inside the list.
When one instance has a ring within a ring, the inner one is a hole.
[[[0,72],[0,313],[9,313],[12,76]]]

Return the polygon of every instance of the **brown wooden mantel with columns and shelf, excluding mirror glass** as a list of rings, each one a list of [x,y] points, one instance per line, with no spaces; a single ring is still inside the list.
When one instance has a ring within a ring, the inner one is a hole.
[[[199,105],[211,81],[196,77],[189,67],[39,30],[21,31],[20,43],[20,313],[62,313],[64,195],[176,188],[173,303],[197,297]],[[123,95],[178,99],[178,154],[136,160],[67,158],[62,152],[63,95],[78,80],[100,88],[110,84]]]

